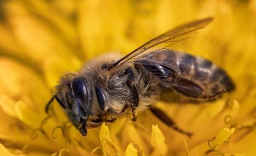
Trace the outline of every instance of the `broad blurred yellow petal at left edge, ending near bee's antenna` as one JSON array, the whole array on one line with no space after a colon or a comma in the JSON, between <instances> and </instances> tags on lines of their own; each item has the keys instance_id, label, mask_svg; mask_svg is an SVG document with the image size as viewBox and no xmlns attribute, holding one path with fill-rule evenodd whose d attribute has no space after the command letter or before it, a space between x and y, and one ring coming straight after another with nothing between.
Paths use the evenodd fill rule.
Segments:
<instances>
[{"instance_id":1,"label":"broad blurred yellow petal at left edge, ending near bee's antenna","mask_svg":"<svg viewBox=\"0 0 256 156\"><path fill-rule=\"evenodd\" d=\"M14 59L0 57L0 85L2 94L38 110L43 109L49 98L49 90L41 76Z\"/></svg>"}]
</instances>

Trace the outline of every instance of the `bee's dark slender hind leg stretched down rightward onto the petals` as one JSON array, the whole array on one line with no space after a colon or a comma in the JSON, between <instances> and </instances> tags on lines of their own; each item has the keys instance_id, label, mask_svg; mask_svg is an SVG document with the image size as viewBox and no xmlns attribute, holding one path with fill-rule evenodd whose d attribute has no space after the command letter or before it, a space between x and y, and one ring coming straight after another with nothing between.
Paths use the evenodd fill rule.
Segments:
<instances>
[{"instance_id":1,"label":"bee's dark slender hind leg stretched down rightward onto the petals","mask_svg":"<svg viewBox=\"0 0 256 156\"><path fill-rule=\"evenodd\" d=\"M191 132L187 132L187 131L180 129L176 125L176 123L173 121L173 119L171 119L165 112L161 111L160 109L153 107L153 106L151 106L149 109L155 116L157 116L162 122L164 122L167 126L172 128L173 130L175 130L179 133L182 133L184 135L187 135L188 137L191 137L193 135Z\"/></svg>"}]
</instances>

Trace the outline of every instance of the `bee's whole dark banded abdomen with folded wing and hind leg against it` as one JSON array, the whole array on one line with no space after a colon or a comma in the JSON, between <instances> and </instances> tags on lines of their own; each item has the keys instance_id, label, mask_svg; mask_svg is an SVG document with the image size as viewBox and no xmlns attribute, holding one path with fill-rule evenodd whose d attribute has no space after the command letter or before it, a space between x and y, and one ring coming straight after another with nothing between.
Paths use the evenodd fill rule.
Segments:
<instances>
[{"instance_id":1,"label":"bee's whole dark banded abdomen with folded wing and hind leg against it","mask_svg":"<svg viewBox=\"0 0 256 156\"><path fill-rule=\"evenodd\" d=\"M210 60L188 53L161 49L133 61L159 78L164 88L172 88L194 99L216 99L235 89L227 73Z\"/></svg>"}]
</instances>

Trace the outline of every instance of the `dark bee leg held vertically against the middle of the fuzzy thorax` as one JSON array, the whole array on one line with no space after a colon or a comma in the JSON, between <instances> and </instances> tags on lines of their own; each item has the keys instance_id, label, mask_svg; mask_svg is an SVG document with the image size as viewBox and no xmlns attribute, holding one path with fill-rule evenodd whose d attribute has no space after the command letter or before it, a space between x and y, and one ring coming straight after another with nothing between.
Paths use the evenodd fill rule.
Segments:
<instances>
[{"instance_id":1,"label":"dark bee leg held vertically against the middle of the fuzzy thorax","mask_svg":"<svg viewBox=\"0 0 256 156\"><path fill-rule=\"evenodd\" d=\"M130 104L130 107L132 108L132 121L136 121L137 115L136 115L136 107L138 106L138 90L135 86L136 80L135 76L132 72L131 67L127 68L125 70L125 73L127 75L127 81L126 84L129 87L130 96L128 98L128 103Z\"/></svg>"}]
</instances>

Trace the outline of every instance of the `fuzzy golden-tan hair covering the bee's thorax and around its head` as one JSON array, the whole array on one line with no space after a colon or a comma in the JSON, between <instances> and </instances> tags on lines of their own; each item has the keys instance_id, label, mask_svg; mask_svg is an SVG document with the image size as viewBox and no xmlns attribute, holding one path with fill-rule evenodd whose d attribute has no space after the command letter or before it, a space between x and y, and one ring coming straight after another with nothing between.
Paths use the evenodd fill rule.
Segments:
<instances>
[{"instance_id":1,"label":"fuzzy golden-tan hair covering the bee's thorax and around its head","mask_svg":"<svg viewBox=\"0 0 256 156\"><path fill-rule=\"evenodd\" d=\"M77 77L84 77L88 80L92 88L93 96L90 109L92 113L95 114L94 118L97 118L97 115L116 116L122 115L125 112L130 113L130 107L128 107L126 111L123 111L125 105L128 103L127 99L131 93L126 85L127 76L122 76L122 73L125 72L125 69L127 69L129 65L123 65L120 68L110 71L102 69L103 65L113 63L114 61L120 59L119 56L120 55L117 53L101 55L90 60L77 73L66 73L63 77L61 77L59 85L56 86L57 96L64 101L65 92L71 89L71 82ZM139 94L139 104L136 110L143 111L147 108L147 106L152 105L159 100L159 80L142 67L138 67L137 70L133 65L130 67L135 75L135 85ZM107 106L105 107L104 111L101 110L96 97L94 87L97 85L103 88L105 95L107 96ZM107 110L109 108L112 108L117 113L108 113Z\"/></svg>"}]
</instances>

